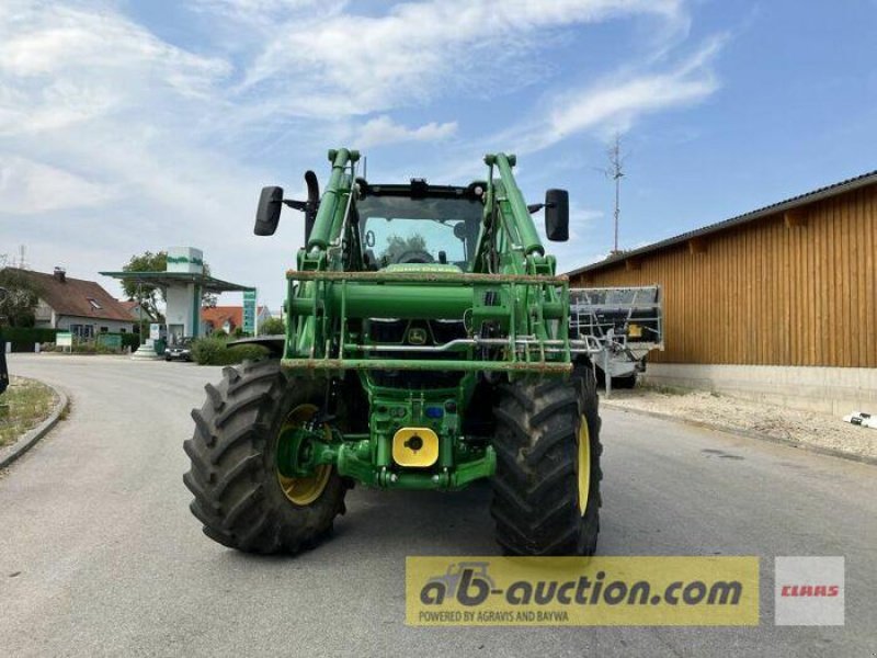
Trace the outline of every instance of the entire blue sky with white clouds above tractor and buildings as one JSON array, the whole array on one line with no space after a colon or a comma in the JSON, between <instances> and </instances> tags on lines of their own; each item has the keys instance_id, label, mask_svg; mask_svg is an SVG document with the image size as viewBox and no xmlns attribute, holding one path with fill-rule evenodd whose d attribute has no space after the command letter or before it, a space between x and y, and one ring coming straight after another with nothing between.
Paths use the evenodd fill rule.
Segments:
<instances>
[{"instance_id":1,"label":"entire blue sky with white clouds above tractor and buildings","mask_svg":"<svg viewBox=\"0 0 877 658\"><path fill-rule=\"evenodd\" d=\"M613 248L616 135L623 249L877 169L876 34L877 0L2 0L0 260L121 295L192 246L276 311L304 223L253 236L259 191L346 146L372 182L516 154L569 190L567 271Z\"/></svg>"}]
</instances>

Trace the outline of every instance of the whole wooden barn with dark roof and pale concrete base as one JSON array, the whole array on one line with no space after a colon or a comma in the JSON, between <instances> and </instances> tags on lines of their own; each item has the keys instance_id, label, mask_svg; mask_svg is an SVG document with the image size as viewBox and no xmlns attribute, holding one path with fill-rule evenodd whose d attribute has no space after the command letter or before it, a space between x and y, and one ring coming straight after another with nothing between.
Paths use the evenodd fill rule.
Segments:
<instances>
[{"instance_id":1,"label":"whole wooden barn with dark roof and pale concrete base","mask_svg":"<svg viewBox=\"0 0 877 658\"><path fill-rule=\"evenodd\" d=\"M613 256L573 287L663 286L647 377L877 412L877 171Z\"/></svg>"}]
</instances>

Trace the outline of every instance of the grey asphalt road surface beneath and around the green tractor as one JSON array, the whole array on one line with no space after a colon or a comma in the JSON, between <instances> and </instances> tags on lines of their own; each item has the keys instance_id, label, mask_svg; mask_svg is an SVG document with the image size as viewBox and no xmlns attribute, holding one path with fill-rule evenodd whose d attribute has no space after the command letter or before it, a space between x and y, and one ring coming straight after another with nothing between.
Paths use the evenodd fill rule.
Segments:
<instances>
[{"instance_id":1,"label":"grey asphalt road surface beneath and around the green tractor","mask_svg":"<svg viewBox=\"0 0 877 658\"><path fill-rule=\"evenodd\" d=\"M3 656L875 656L877 468L604 410L605 555L761 556L741 628L421 628L406 555L494 555L489 489L355 489L295 558L208 541L182 474L189 411L219 368L12 355L72 411L0 474ZM773 558L843 555L846 624L776 627Z\"/></svg>"}]
</instances>

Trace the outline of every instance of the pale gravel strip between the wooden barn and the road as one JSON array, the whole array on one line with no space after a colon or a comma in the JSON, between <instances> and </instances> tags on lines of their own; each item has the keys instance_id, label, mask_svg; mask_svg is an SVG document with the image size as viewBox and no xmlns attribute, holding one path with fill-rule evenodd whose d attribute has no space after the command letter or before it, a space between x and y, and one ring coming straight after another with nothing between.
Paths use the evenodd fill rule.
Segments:
<instances>
[{"instance_id":1,"label":"pale gravel strip between the wooden barn and the road","mask_svg":"<svg viewBox=\"0 0 877 658\"><path fill-rule=\"evenodd\" d=\"M742 430L858 457L877 458L877 430L853 426L840 417L824 413L799 411L705 390L645 386L634 390L613 390L612 398L604 398L601 402ZM863 410L877 412L877 409Z\"/></svg>"}]
</instances>

